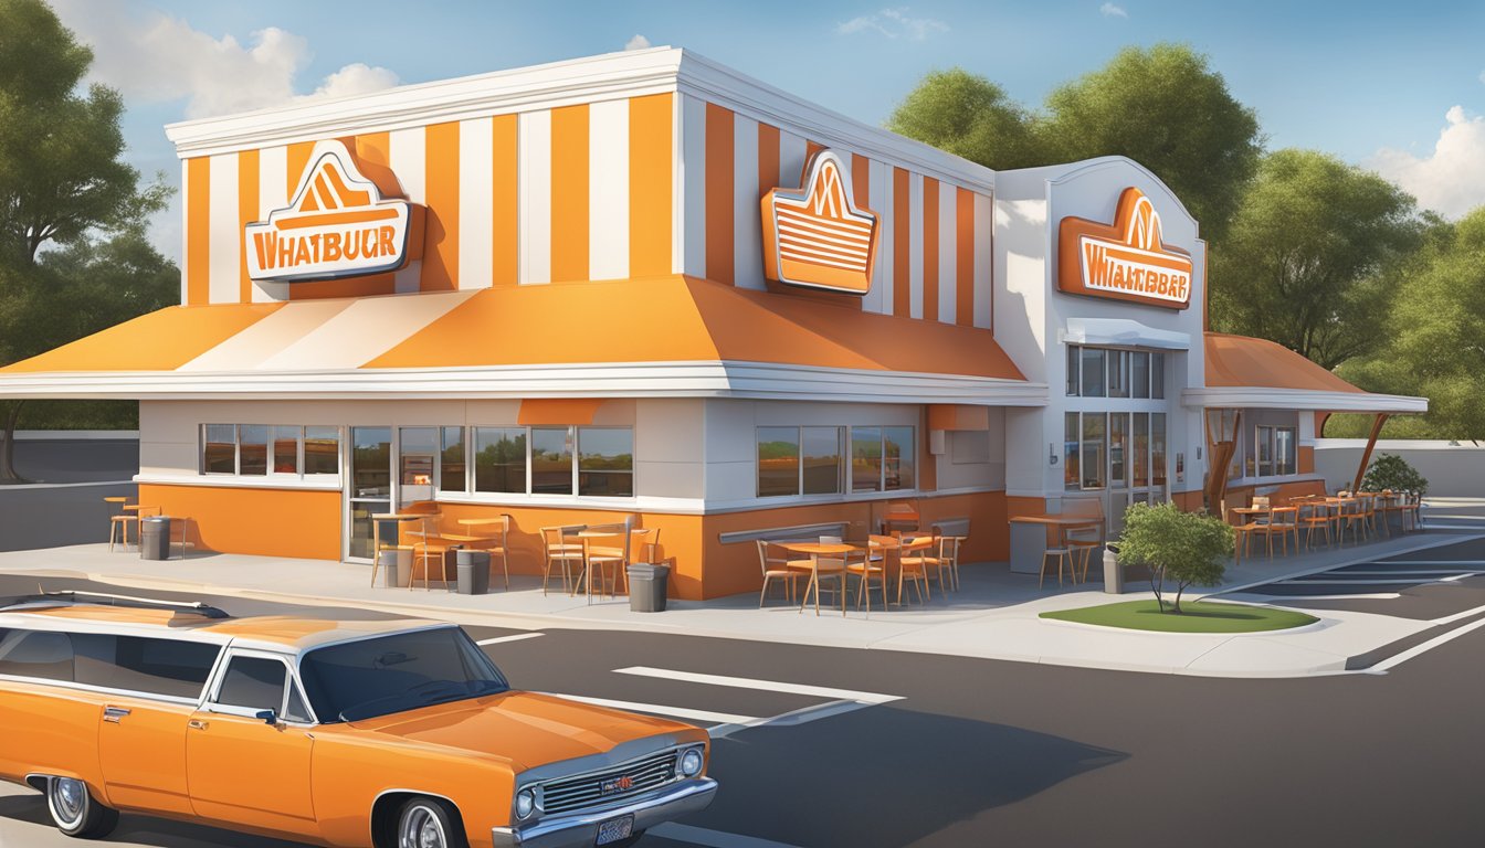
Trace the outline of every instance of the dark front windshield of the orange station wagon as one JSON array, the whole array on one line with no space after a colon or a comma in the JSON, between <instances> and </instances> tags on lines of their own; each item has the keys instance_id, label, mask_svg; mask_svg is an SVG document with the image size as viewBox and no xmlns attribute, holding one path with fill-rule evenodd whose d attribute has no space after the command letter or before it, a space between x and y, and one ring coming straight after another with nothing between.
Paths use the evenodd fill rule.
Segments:
<instances>
[{"instance_id":1,"label":"dark front windshield of the orange station wagon","mask_svg":"<svg viewBox=\"0 0 1485 848\"><path fill-rule=\"evenodd\" d=\"M318 648L304 653L298 671L321 722L356 722L509 689L457 627Z\"/></svg>"}]
</instances>

